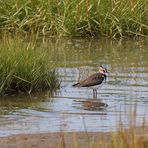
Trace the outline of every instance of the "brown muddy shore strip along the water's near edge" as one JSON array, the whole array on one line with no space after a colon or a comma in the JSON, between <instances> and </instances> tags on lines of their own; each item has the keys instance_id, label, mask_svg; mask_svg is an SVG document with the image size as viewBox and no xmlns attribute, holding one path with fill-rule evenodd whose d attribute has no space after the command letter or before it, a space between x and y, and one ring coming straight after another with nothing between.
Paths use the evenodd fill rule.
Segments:
<instances>
[{"instance_id":1,"label":"brown muddy shore strip along the water's near edge","mask_svg":"<svg viewBox=\"0 0 148 148\"><path fill-rule=\"evenodd\" d=\"M148 142L148 126L136 127L135 129L122 129L118 132L56 132L17 134L0 138L1 148L54 148L54 147L108 147L112 144L113 138L119 139L121 132L127 135L127 139L134 135L136 139ZM131 142L131 141L130 141Z\"/></svg>"}]
</instances>

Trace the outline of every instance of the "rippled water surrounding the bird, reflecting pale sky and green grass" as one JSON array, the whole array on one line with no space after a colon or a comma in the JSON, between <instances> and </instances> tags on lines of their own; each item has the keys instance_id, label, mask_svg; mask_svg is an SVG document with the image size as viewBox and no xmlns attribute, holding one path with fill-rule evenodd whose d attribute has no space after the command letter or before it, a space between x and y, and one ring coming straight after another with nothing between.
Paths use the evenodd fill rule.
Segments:
<instances>
[{"instance_id":1,"label":"rippled water surrounding the bird, reflecting pale sky and green grass","mask_svg":"<svg viewBox=\"0 0 148 148\"><path fill-rule=\"evenodd\" d=\"M0 136L148 125L148 42L60 39L39 46L57 68L61 88L53 97L45 92L1 98ZM100 64L109 75L97 91L97 103L103 105L95 108L92 89L72 84L97 72Z\"/></svg>"}]
</instances>

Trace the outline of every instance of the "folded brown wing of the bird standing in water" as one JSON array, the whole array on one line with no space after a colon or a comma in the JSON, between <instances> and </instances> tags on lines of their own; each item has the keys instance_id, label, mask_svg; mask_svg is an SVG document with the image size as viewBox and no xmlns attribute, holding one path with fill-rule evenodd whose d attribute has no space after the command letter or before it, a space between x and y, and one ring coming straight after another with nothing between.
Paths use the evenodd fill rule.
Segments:
<instances>
[{"instance_id":1,"label":"folded brown wing of the bird standing in water","mask_svg":"<svg viewBox=\"0 0 148 148\"><path fill-rule=\"evenodd\" d=\"M89 86L99 85L102 83L104 78L105 76L103 74L95 73L89 76L87 79L80 81L77 86L78 87L89 87Z\"/></svg>"}]
</instances>

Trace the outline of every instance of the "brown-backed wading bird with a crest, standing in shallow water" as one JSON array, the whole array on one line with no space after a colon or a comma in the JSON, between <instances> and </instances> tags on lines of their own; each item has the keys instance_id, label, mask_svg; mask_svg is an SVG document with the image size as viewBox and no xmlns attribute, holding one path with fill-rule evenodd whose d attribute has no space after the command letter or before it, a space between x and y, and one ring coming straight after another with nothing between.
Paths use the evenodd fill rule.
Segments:
<instances>
[{"instance_id":1,"label":"brown-backed wading bird with a crest, standing in shallow water","mask_svg":"<svg viewBox=\"0 0 148 148\"><path fill-rule=\"evenodd\" d=\"M97 73L90 75L88 78L79 81L76 84L73 84L73 87L90 87L93 89L93 99L97 99L97 88L103 81L107 78L107 69L104 68L102 65L99 67Z\"/></svg>"}]
</instances>

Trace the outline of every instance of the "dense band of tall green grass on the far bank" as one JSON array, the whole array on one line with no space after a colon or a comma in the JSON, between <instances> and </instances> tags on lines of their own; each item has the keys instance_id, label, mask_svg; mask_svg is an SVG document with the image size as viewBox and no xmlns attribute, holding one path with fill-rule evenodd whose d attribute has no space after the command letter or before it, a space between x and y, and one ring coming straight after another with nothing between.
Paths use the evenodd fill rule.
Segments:
<instances>
[{"instance_id":1,"label":"dense band of tall green grass on the far bank","mask_svg":"<svg viewBox=\"0 0 148 148\"><path fill-rule=\"evenodd\" d=\"M148 2L1 0L0 32L50 36L147 37Z\"/></svg>"}]
</instances>

